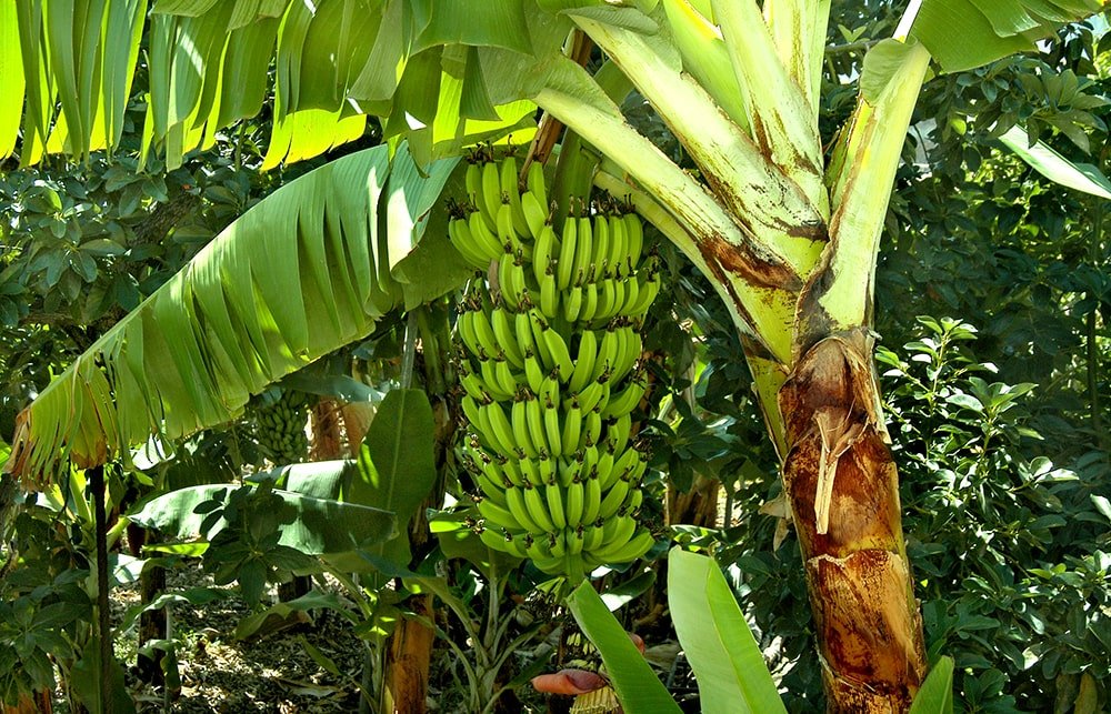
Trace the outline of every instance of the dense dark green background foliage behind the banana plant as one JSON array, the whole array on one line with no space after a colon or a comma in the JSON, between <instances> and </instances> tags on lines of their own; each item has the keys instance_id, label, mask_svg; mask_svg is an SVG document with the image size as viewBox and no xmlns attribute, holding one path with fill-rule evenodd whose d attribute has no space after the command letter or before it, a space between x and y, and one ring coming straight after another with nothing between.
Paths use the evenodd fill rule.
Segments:
<instances>
[{"instance_id":1,"label":"dense dark green background foliage behind the banana plant","mask_svg":"<svg viewBox=\"0 0 1111 714\"><path fill-rule=\"evenodd\" d=\"M865 49L859 39L890 31L897 17L889 3L872 1L838 3L837 12L832 41L840 47L830 52L823 92L823 122L830 125L851 109L855 90L842 80L859 68ZM1105 209L1053 187L992 141L1022 122L1032 137L1107 170L1108 37L1080 27L1040 56L931 82L888 217L878 275L877 369L930 656L954 658L958 702L969 711L1095 711L1109 701ZM1063 71L1063 79L1047 70ZM645 135L681 157L643 104L631 100L627 110ZM286 174L249 170L260 160L252 133L222 141L217 152L193 157L169 174L156 164L140 171L126 152L112 163L94 158L86 167L57 161L0 172L4 436L16 410L107 326L224 224L308 168ZM670 533L731 564L733 589L781 677L788 707L814 711L820 665L799 549L778 517L784 511L777 460L749 391L735 331L697 271L658 235L649 241L662 259L664 294L647 323L653 388L639 435L653 446L653 460L644 484L652 497L645 497L642 519L664 533L661 504L669 484L682 492L720 480L725 512L735 519L720 530L677 526ZM444 312L442 305L437 310ZM446 323L441 326L444 332ZM384 320L366 343L331 361L324 381L334 385L337 373L344 379L354 373L361 389L379 399L376 390L399 383L436 392L437 384L453 379L452 368L427 348L417 350L412 338L403 344L406 330L398 315ZM422 343L434 342L433 335L421 332ZM421 361L416 378L413 360ZM172 491L223 482L268 459L284 461L251 434L252 418L261 421L263 405L276 394L249 408L259 413L244 423L203 433L144 473L110 473L110 493L119 500L126 484ZM433 402L437 409L457 406ZM304 451L300 441L296 446L299 454ZM473 491L466 475L457 473L450 454L438 459L447 491L464 500ZM27 507L13 523L23 560L0 582L0 643L10 645L0 646L6 698L52 682L48 655L68 674L91 631L91 520L81 484L70 485ZM293 571L348 572L279 544L279 526L287 524L278 522L278 496L267 487L233 493L227 505L211 506L232 527L213 535L201 561L218 583L238 582L240 593L257 603L264 600L268 581L287 580ZM254 495L248 499L249 493ZM449 667L457 684L464 682L457 698L467 705L490 702L499 687L521 685L528 667L551 654L520 656L518 648L546 633L523 605L506 604L499 612L500 599L512 594L523 602L542 579L530 569L511 576L499 572L514 564L477 547L464 516L450 503L436 517L439 549L432 543L409 552L407 545L403 554L391 554L389 566L412 579L407 582L413 590L436 592L453 612L458 622L438 634L443 648L459 655ZM64 527L51 527L59 520ZM661 559L663 551L651 555ZM162 564L193 567L197 561L174 556ZM383 561L372 564L382 567ZM638 581L639 573L609 575L609 585L627 585L632 593L627 622L648 611L653 597L651 590L642 596L650 577ZM118 576L126 574L123 569ZM347 593L356 605L317 597L294 607L339 610L361 636L377 641L382 621L403 607L400 594L382 600L380 584L369 576L352 579ZM188 599L212 596L198 591ZM507 612L520 622L503 625L499 617L508 619ZM667 637L670 631L663 625L651 634ZM468 641L480 643L478 654L462 654ZM507 663L518 673L508 682L499 680Z\"/></svg>"}]
</instances>

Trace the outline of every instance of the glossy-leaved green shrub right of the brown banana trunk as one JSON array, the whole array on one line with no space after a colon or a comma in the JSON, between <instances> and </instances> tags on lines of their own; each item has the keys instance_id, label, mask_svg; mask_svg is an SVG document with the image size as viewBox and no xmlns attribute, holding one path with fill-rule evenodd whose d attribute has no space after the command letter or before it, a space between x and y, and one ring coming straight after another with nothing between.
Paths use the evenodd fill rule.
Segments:
<instances>
[{"instance_id":1,"label":"glossy-leaved green shrub right of the brown banana trunk","mask_svg":"<svg viewBox=\"0 0 1111 714\"><path fill-rule=\"evenodd\" d=\"M1054 711L1081 690L1104 701L1105 480L1030 455L1035 385L989 381L993 366L969 349L974 328L919 323L904 355L881 349L878 361L930 654L954 657L969 711Z\"/></svg>"}]
</instances>

